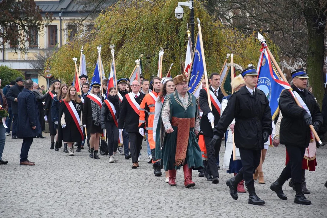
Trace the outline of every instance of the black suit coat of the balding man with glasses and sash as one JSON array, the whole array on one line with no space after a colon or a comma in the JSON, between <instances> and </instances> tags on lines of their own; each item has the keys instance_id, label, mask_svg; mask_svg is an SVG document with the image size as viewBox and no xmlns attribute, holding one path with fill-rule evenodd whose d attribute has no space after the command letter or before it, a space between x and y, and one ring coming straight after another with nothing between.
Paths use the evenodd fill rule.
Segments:
<instances>
[{"instance_id":1,"label":"black suit coat of the balding man with glasses and sash","mask_svg":"<svg viewBox=\"0 0 327 218\"><path fill-rule=\"evenodd\" d=\"M140 105L144 94L138 94L136 102ZM120 106L119 120L118 120L118 129L123 129L125 121L126 132L139 132L139 119L140 116L134 111L132 106L126 99L126 96L123 96L123 101Z\"/></svg>"}]
</instances>

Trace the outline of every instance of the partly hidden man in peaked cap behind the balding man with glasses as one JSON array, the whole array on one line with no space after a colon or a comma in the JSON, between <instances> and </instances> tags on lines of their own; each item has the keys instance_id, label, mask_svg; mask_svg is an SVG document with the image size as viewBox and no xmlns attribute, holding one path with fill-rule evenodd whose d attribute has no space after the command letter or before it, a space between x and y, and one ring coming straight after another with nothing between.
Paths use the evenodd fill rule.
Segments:
<instances>
[{"instance_id":1,"label":"partly hidden man in peaked cap behind the balding man with glasses","mask_svg":"<svg viewBox=\"0 0 327 218\"><path fill-rule=\"evenodd\" d=\"M118 95L120 101L123 101L123 96L129 93L126 90L126 88L127 88L127 79L126 78L118 79L117 83L118 83L118 93L117 93L117 95ZM123 130L122 130L122 137L123 137L123 144L124 144L125 159L130 159L129 148L128 148L129 138L128 138L128 132L126 132L125 126L123 127ZM117 150L118 150L119 153L121 153L121 154L123 153L122 147L118 147Z\"/></svg>"}]
</instances>

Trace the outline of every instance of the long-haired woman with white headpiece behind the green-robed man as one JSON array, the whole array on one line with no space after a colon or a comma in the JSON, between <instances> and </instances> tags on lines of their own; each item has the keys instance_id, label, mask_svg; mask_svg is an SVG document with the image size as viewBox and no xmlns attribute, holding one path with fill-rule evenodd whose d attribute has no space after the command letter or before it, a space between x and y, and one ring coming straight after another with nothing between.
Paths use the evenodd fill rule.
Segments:
<instances>
[{"instance_id":1,"label":"long-haired woman with white headpiece behind the green-robed man","mask_svg":"<svg viewBox=\"0 0 327 218\"><path fill-rule=\"evenodd\" d=\"M161 79L162 83L162 88L158 96L158 100L156 101L155 108L154 108L154 119L153 119L153 140L155 142L155 159L161 159L162 160L162 153L161 153L161 147L162 140L156 140L156 132L157 132L157 126L158 126L158 121L161 113L161 109L163 106L163 101L166 98L167 95L172 94L176 89L175 89L175 84L174 80L171 77L163 77ZM159 124L160 126L161 124ZM161 137L160 134L160 128L158 129L158 137ZM158 142L158 143L157 143ZM161 164L163 165L163 161L161 161ZM169 182L169 174L168 171L165 171L165 183Z\"/></svg>"}]
</instances>

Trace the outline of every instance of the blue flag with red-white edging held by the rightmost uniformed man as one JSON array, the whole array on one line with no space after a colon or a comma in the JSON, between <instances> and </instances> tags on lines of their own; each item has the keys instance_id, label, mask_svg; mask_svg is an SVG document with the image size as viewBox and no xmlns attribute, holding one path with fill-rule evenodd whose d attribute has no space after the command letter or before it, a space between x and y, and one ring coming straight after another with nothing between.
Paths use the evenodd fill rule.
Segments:
<instances>
[{"instance_id":1,"label":"blue flag with red-white edging held by the rightmost uniformed man","mask_svg":"<svg viewBox=\"0 0 327 218\"><path fill-rule=\"evenodd\" d=\"M287 81L284 82L280 79L265 48L260 55L257 72L259 74L257 88L265 92L269 100L272 119L275 119L279 113L278 102L281 92L289 89L290 86Z\"/></svg>"}]
</instances>

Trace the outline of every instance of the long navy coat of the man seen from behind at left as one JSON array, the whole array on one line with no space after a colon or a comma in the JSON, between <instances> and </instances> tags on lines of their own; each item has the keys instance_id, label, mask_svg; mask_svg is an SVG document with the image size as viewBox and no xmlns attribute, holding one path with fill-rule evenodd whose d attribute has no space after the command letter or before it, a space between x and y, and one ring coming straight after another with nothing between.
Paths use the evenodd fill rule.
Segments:
<instances>
[{"instance_id":1,"label":"long navy coat of the man seen from behind at left","mask_svg":"<svg viewBox=\"0 0 327 218\"><path fill-rule=\"evenodd\" d=\"M38 103L35 95L28 89L18 94L17 137L28 138L41 134ZM36 126L35 129L32 129Z\"/></svg>"}]
</instances>

